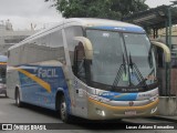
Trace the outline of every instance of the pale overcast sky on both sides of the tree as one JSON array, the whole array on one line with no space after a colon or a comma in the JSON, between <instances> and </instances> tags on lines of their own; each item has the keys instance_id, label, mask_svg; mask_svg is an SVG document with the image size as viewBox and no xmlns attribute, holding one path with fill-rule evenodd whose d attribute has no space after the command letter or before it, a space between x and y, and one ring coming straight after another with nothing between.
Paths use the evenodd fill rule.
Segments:
<instances>
[{"instance_id":1,"label":"pale overcast sky on both sides of the tree","mask_svg":"<svg viewBox=\"0 0 177 133\"><path fill-rule=\"evenodd\" d=\"M146 0L150 8L169 4L171 0ZM14 30L30 29L30 24L37 24L37 29L55 23L62 19L51 2L44 0L0 0L0 21L10 20Z\"/></svg>"}]
</instances>

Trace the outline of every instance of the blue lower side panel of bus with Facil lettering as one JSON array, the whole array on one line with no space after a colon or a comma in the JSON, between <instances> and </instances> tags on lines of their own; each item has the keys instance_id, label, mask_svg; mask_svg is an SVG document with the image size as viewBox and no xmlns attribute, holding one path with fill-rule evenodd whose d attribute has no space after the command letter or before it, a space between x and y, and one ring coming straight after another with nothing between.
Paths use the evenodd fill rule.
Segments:
<instances>
[{"instance_id":1,"label":"blue lower side panel of bus with Facil lettering","mask_svg":"<svg viewBox=\"0 0 177 133\"><path fill-rule=\"evenodd\" d=\"M67 84L61 66L22 65L19 69L41 79L41 81L50 84L51 88L51 91L46 90L37 80L33 80L31 75L29 76L23 71L19 71L23 102L55 110L56 92L62 90L70 106Z\"/></svg>"}]
</instances>

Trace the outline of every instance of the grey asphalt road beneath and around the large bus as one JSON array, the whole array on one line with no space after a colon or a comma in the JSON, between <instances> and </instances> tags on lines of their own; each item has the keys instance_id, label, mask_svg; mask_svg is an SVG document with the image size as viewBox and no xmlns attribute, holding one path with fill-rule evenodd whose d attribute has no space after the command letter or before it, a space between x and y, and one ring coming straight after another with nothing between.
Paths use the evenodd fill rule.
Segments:
<instances>
[{"instance_id":1,"label":"grey asphalt road beneath and around the large bus","mask_svg":"<svg viewBox=\"0 0 177 133\"><path fill-rule=\"evenodd\" d=\"M76 122L76 123L75 123ZM48 131L0 131L4 133L176 133L175 130L123 130L122 125L137 126L137 123L169 123L150 119L124 119L119 121L93 122L83 119L74 119L73 124L64 124L56 112L25 104L17 108L14 100L0 95L0 123L53 123L60 130Z\"/></svg>"}]
</instances>

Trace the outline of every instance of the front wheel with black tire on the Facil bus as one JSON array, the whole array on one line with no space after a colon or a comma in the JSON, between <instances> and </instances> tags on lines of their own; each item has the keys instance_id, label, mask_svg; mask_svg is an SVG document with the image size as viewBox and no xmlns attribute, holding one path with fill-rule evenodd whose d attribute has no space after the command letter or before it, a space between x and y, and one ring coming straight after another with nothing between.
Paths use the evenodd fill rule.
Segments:
<instances>
[{"instance_id":1,"label":"front wheel with black tire on the Facil bus","mask_svg":"<svg viewBox=\"0 0 177 133\"><path fill-rule=\"evenodd\" d=\"M67 105L64 95L60 99L59 108L60 117L64 123L71 123L71 115L67 113Z\"/></svg>"}]
</instances>

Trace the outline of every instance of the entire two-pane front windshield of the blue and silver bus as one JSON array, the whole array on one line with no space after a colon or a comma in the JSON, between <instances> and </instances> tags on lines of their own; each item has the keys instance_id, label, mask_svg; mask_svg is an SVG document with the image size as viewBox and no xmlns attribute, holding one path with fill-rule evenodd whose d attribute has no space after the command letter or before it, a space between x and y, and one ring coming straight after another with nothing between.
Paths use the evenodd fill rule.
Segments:
<instances>
[{"instance_id":1,"label":"entire two-pane front windshield of the blue and silver bus","mask_svg":"<svg viewBox=\"0 0 177 133\"><path fill-rule=\"evenodd\" d=\"M86 37L93 44L92 82L110 86L155 83L154 53L146 34L87 29Z\"/></svg>"}]
</instances>

